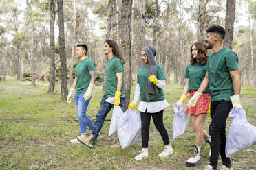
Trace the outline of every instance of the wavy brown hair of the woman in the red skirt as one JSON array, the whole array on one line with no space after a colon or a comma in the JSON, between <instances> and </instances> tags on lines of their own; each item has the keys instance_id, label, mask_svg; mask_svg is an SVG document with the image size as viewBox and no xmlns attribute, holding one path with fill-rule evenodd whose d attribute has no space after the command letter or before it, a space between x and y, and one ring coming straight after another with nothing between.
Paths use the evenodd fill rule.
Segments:
<instances>
[{"instance_id":1,"label":"wavy brown hair of the woman in the red skirt","mask_svg":"<svg viewBox=\"0 0 256 170\"><path fill-rule=\"evenodd\" d=\"M192 56L192 47L193 45L195 45L195 48L198 50L198 56L196 58L193 58ZM196 62L196 59L198 58L199 60L199 64L206 64L207 63L207 59L208 59L208 52L206 47L204 46L203 42L195 42L193 45L191 45L190 48L190 63L193 64L194 62Z\"/></svg>"}]
</instances>

